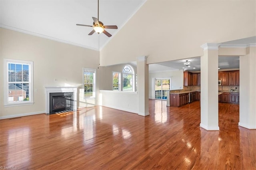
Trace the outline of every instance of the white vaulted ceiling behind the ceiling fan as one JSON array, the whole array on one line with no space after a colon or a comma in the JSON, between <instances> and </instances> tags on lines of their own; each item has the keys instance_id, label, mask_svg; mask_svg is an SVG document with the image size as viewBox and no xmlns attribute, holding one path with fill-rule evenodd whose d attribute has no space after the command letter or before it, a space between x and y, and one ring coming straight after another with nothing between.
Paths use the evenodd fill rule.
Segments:
<instances>
[{"instance_id":1,"label":"white vaulted ceiling behind the ceiling fan","mask_svg":"<svg viewBox=\"0 0 256 170\"><path fill-rule=\"evenodd\" d=\"M146 0L99 0L99 20L118 30ZM97 0L0 0L0 27L98 50L98 35L88 34L98 18ZM107 29L112 37L118 30ZM100 34L100 49L110 40Z\"/></svg>"}]
</instances>

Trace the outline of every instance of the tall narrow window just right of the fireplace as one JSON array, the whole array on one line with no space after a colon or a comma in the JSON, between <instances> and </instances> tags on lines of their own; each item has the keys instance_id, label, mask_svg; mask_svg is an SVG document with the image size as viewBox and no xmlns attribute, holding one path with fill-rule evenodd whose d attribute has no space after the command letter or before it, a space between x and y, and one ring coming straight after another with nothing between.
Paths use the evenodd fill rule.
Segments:
<instances>
[{"instance_id":1,"label":"tall narrow window just right of the fireplace","mask_svg":"<svg viewBox=\"0 0 256 170\"><path fill-rule=\"evenodd\" d=\"M83 69L84 98L94 98L96 88L96 69Z\"/></svg>"}]
</instances>

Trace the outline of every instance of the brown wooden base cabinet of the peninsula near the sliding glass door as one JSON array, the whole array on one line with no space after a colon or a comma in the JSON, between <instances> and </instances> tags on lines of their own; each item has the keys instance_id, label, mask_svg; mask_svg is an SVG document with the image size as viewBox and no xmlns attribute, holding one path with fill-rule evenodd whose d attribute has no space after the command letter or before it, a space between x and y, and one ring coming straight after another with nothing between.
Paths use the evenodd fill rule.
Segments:
<instances>
[{"instance_id":1,"label":"brown wooden base cabinet of the peninsula near the sliding glass door","mask_svg":"<svg viewBox=\"0 0 256 170\"><path fill-rule=\"evenodd\" d=\"M180 107L188 104L189 93L171 93L170 106Z\"/></svg>"}]
</instances>

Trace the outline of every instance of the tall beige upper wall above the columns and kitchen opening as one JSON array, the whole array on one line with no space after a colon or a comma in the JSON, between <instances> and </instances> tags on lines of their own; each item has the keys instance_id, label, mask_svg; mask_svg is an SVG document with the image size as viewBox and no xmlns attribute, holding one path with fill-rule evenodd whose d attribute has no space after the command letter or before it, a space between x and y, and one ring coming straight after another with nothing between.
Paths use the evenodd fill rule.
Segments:
<instances>
[{"instance_id":1,"label":"tall beige upper wall above the columns and kitchen opening","mask_svg":"<svg viewBox=\"0 0 256 170\"><path fill-rule=\"evenodd\" d=\"M203 55L200 45L256 35L256 1L148 0L102 49L102 65Z\"/></svg>"}]
</instances>

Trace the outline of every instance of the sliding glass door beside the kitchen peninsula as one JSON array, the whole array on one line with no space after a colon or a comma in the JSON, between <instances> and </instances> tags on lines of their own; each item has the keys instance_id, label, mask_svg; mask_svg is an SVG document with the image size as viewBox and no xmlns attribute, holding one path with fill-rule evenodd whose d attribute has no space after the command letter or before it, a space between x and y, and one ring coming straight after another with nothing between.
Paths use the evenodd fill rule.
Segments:
<instances>
[{"instance_id":1,"label":"sliding glass door beside the kitchen peninsula","mask_svg":"<svg viewBox=\"0 0 256 170\"><path fill-rule=\"evenodd\" d=\"M155 80L155 97L156 99L167 99L167 93L170 90L170 78L157 78Z\"/></svg>"}]
</instances>

